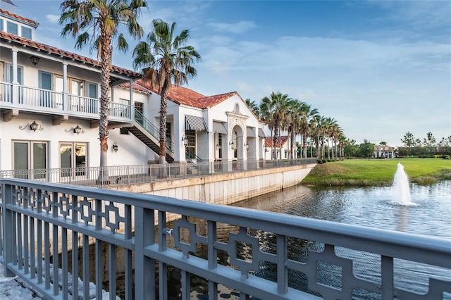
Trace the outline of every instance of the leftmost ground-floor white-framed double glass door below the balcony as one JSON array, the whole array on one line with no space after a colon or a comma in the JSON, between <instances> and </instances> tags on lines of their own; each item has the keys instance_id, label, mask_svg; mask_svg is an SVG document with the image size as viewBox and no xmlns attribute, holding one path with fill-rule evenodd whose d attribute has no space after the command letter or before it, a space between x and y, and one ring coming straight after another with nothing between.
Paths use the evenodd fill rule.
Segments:
<instances>
[{"instance_id":1,"label":"leftmost ground-floor white-framed double glass door below the balcony","mask_svg":"<svg viewBox=\"0 0 451 300\"><path fill-rule=\"evenodd\" d=\"M31 167L31 168L30 168ZM47 142L16 141L13 142L14 170L47 169ZM45 173L20 176L24 179L45 178Z\"/></svg>"}]
</instances>

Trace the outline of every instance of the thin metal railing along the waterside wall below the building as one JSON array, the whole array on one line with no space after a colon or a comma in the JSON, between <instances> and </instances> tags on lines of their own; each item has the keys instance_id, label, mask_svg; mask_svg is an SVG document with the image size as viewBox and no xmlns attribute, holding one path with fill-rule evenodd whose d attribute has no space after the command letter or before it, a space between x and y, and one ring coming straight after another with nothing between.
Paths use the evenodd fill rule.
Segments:
<instances>
[{"instance_id":1,"label":"thin metal railing along the waterside wall below the building","mask_svg":"<svg viewBox=\"0 0 451 300\"><path fill-rule=\"evenodd\" d=\"M259 168L283 168L285 166L315 164L315 158L301 158L284 161L216 161L201 163L166 163L163 165L115 165L109 167L78 167L33 170L0 170L0 177L56 182L89 187L137 185L141 183L179 180L228 172L246 172ZM196 172L193 172L196 170ZM98 181L99 173L108 180Z\"/></svg>"}]
</instances>

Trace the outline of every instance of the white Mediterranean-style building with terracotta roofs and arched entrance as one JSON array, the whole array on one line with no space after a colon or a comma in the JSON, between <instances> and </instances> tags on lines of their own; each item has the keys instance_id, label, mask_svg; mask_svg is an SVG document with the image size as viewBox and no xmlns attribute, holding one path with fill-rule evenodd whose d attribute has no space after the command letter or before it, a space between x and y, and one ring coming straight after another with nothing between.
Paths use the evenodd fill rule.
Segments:
<instances>
[{"instance_id":1,"label":"white Mediterranean-style building with terracotta roofs and arched entrance","mask_svg":"<svg viewBox=\"0 0 451 300\"><path fill-rule=\"evenodd\" d=\"M38 26L0 9L0 170L98 166L99 62L35 41ZM108 165L158 161L159 94L117 66L110 86ZM167 128L169 163L264 158L264 123L237 92L173 87Z\"/></svg>"}]
</instances>

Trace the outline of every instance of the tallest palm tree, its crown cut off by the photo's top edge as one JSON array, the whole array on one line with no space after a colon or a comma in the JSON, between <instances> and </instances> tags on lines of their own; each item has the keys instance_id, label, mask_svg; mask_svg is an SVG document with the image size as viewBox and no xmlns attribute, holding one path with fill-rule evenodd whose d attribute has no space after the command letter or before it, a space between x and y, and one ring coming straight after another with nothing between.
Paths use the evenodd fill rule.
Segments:
<instances>
[{"instance_id":1,"label":"tallest palm tree, its crown cut off by the photo's top edge","mask_svg":"<svg viewBox=\"0 0 451 300\"><path fill-rule=\"evenodd\" d=\"M142 37L142 27L137 23L141 8L147 7L146 0L67 0L61 3L59 23L64 25L61 35L76 37L75 47L81 49L91 44L91 50L97 51L100 59L100 169L99 181L108 180L104 174L108 151L108 118L110 103L110 72L113 57L113 38L118 39L118 49L126 52L128 44L123 34L119 33L121 25L128 28L132 37ZM92 30L92 35L89 31Z\"/></svg>"}]
</instances>

